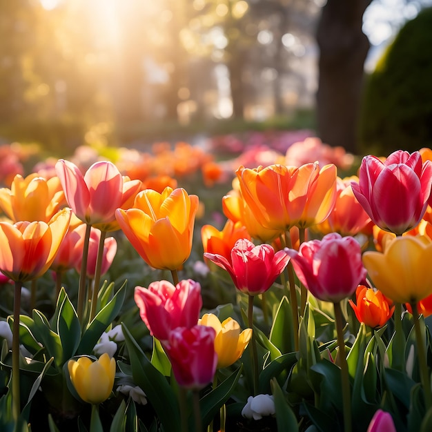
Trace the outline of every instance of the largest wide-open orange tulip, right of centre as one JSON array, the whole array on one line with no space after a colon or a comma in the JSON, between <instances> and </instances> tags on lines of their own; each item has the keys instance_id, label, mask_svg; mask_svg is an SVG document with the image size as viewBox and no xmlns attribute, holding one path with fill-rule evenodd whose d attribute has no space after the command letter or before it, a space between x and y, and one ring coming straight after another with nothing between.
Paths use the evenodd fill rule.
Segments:
<instances>
[{"instance_id":1,"label":"largest wide-open orange tulip, right of centre","mask_svg":"<svg viewBox=\"0 0 432 432\"><path fill-rule=\"evenodd\" d=\"M259 224L285 231L291 226L307 228L320 224L330 214L336 199L336 166L318 164L271 165L236 171L246 204Z\"/></svg>"}]
</instances>

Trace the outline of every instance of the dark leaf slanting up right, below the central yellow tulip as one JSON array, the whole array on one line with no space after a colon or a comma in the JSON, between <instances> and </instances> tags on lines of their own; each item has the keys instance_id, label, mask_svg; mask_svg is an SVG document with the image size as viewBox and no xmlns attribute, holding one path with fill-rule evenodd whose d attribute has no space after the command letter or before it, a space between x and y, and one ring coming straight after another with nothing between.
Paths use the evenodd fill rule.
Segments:
<instances>
[{"instance_id":1,"label":"dark leaf slanting up right, below the central yellow tulip","mask_svg":"<svg viewBox=\"0 0 432 432\"><path fill-rule=\"evenodd\" d=\"M241 373L242 366L239 366L226 380L199 400L199 409L201 411L204 427L210 424L211 420L213 420L215 415L219 412L221 406L229 399L231 393L233 393L235 389L235 385L239 381Z\"/></svg>"}]
</instances>

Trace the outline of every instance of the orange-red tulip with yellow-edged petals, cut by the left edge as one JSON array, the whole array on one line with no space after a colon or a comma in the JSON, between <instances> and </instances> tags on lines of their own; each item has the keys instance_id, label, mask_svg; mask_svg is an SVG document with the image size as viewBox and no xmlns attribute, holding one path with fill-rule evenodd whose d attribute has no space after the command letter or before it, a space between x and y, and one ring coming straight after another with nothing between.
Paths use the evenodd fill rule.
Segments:
<instances>
[{"instance_id":1,"label":"orange-red tulip with yellow-edged petals, cut by the left edge","mask_svg":"<svg viewBox=\"0 0 432 432\"><path fill-rule=\"evenodd\" d=\"M55 259L70 222L63 208L48 222L0 222L0 270L15 282L43 275Z\"/></svg>"}]
</instances>

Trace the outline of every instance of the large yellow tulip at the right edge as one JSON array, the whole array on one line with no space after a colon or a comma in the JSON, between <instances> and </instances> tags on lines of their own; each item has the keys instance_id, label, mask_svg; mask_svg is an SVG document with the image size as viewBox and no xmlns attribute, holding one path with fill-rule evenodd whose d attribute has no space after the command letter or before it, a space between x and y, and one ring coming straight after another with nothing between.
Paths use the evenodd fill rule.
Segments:
<instances>
[{"instance_id":1,"label":"large yellow tulip at the right edge","mask_svg":"<svg viewBox=\"0 0 432 432\"><path fill-rule=\"evenodd\" d=\"M395 237L384 253L368 251L363 264L373 283L397 303L416 303L432 294L432 242L424 236Z\"/></svg>"}]
</instances>

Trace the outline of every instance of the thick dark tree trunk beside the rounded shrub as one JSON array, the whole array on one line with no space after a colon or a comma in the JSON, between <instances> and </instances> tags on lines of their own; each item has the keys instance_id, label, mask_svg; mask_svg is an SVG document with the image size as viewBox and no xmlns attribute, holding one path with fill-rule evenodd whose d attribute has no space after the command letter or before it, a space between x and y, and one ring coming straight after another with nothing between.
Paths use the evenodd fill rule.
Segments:
<instances>
[{"instance_id":1,"label":"thick dark tree trunk beside the rounded shrub","mask_svg":"<svg viewBox=\"0 0 432 432\"><path fill-rule=\"evenodd\" d=\"M362 17L371 0L327 0L317 28L320 48L318 134L331 146L357 150L357 120L369 40Z\"/></svg>"}]
</instances>

